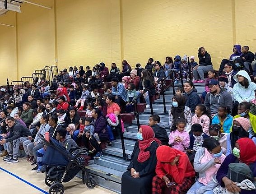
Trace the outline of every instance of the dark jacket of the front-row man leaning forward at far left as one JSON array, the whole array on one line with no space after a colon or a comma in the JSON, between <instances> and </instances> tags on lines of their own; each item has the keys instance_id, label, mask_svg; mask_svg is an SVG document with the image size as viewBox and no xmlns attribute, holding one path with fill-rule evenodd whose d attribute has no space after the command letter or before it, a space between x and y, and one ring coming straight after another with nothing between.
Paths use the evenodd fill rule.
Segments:
<instances>
[{"instance_id":1,"label":"dark jacket of the front-row man leaning forward at far left","mask_svg":"<svg viewBox=\"0 0 256 194\"><path fill-rule=\"evenodd\" d=\"M14 126L10 127L9 129L10 131L8 137L6 138L6 142L12 142L15 139L32 136L28 128L21 125L19 120L16 120Z\"/></svg>"}]
</instances>

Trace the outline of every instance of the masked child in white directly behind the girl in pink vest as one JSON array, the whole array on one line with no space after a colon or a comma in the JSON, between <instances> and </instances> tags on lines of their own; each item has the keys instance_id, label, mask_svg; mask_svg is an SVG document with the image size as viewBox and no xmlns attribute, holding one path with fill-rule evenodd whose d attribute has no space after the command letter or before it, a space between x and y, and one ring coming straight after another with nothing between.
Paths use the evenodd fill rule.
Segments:
<instances>
[{"instance_id":1,"label":"masked child in white directly behind the girl in pink vest","mask_svg":"<svg viewBox=\"0 0 256 194\"><path fill-rule=\"evenodd\" d=\"M223 154L227 155L227 134L220 132L221 125L214 124L209 127L210 137L219 141Z\"/></svg>"}]
</instances>

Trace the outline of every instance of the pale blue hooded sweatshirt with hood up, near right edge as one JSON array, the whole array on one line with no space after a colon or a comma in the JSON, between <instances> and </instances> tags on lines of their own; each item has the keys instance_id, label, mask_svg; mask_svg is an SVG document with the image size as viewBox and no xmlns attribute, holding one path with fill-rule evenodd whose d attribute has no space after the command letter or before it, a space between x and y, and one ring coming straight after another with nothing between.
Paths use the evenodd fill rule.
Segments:
<instances>
[{"instance_id":1,"label":"pale blue hooded sweatshirt with hood up, near right edge","mask_svg":"<svg viewBox=\"0 0 256 194\"><path fill-rule=\"evenodd\" d=\"M240 83L238 83L237 75L242 75L243 77L248 79L249 81L248 88L245 88ZM234 99L238 103L241 103L242 101L250 102L251 100L255 99L254 90L256 90L256 84L254 82L251 82L251 78L245 70L238 71L237 74L234 75L234 80L237 83L234 85L233 94L234 94Z\"/></svg>"}]
</instances>

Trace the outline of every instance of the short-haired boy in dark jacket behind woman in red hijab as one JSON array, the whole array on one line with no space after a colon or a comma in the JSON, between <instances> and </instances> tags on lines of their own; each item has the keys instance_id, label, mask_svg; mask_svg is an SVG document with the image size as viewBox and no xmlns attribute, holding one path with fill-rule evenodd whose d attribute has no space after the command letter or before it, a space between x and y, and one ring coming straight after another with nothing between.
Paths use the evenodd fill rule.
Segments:
<instances>
[{"instance_id":1,"label":"short-haired boy in dark jacket behind woman in red hijab","mask_svg":"<svg viewBox=\"0 0 256 194\"><path fill-rule=\"evenodd\" d=\"M149 117L149 126L154 130L155 138L162 142L162 145L168 145L169 138L165 130L165 125L160 124L160 116L151 115Z\"/></svg>"}]
</instances>

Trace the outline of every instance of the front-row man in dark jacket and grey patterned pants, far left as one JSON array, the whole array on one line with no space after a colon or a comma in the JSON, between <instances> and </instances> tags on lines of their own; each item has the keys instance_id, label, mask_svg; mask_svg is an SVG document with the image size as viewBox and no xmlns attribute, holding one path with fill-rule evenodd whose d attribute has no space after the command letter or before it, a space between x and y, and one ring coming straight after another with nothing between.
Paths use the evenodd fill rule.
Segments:
<instances>
[{"instance_id":1,"label":"front-row man in dark jacket and grey patterned pants, far left","mask_svg":"<svg viewBox=\"0 0 256 194\"><path fill-rule=\"evenodd\" d=\"M3 160L7 163L19 162L19 146L31 136L31 133L18 120L15 121L13 117L7 118L7 124L9 126L9 135L0 141L1 145L4 143L7 145L8 155Z\"/></svg>"}]
</instances>

